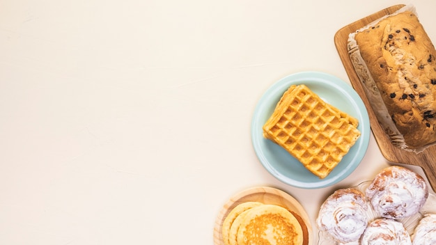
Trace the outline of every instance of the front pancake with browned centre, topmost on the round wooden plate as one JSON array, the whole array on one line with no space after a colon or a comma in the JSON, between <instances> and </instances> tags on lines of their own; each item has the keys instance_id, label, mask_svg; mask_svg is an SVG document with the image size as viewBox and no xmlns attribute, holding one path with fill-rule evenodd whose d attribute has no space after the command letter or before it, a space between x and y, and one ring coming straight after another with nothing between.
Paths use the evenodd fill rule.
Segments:
<instances>
[{"instance_id":1,"label":"front pancake with browned centre, topmost on the round wooden plate","mask_svg":"<svg viewBox=\"0 0 436 245\"><path fill-rule=\"evenodd\" d=\"M303 244L301 225L295 216L283 207L261 205L243 212L239 217L241 221L237 224L238 245Z\"/></svg>"}]
</instances>

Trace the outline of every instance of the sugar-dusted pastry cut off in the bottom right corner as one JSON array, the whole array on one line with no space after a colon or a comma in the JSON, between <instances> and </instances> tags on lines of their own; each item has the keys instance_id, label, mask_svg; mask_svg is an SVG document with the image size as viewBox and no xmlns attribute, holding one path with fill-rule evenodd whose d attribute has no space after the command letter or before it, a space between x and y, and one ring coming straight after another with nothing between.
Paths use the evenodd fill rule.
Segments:
<instances>
[{"instance_id":1,"label":"sugar-dusted pastry cut off in the bottom right corner","mask_svg":"<svg viewBox=\"0 0 436 245\"><path fill-rule=\"evenodd\" d=\"M436 214L427 214L419 221L412 235L412 244L436 244Z\"/></svg>"}]
</instances>

